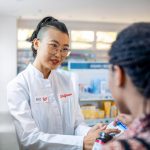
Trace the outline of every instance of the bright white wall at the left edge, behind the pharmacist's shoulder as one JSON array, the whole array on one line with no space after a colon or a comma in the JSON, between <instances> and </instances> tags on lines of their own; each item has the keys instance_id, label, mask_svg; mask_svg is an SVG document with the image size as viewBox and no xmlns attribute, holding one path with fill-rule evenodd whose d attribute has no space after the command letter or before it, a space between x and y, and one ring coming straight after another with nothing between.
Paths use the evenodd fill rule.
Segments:
<instances>
[{"instance_id":1,"label":"bright white wall at the left edge, behind the pharmacist's shoulder","mask_svg":"<svg viewBox=\"0 0 150 150\"><path fill-rule=\"evenodd\" d=\"M6 86L16 76L17 21L0 16L0 111L8 111Z\"/></svg>"}]
</instances>

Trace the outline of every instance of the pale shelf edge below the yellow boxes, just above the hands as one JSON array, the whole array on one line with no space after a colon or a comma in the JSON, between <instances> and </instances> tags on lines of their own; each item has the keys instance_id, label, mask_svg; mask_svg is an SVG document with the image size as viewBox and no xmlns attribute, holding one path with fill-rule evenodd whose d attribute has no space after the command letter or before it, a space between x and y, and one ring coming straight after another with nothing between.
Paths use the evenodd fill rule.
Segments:
<instances>
[{"instance_id":1,"label":"pale shelf edge below the yellow boxes, just above the hands","mask_svg":"<svg viewBox=\"0 0 150 150\"><path fill-rule=\"evenodd\" d=\"M89 126L94 126L97 123L105 123L105 124L109 124L110 122L112 122L114 120L114 118L104 118L104 119L85 119L85 122L87 125Z\"/></svg>"}]
</instances>

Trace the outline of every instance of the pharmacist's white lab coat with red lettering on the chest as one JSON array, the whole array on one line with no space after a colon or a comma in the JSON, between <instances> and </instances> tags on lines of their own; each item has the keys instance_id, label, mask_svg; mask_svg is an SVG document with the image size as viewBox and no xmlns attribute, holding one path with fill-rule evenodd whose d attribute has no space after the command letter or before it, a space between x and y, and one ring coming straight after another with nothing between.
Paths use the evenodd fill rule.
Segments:
<instances>
[{"instance_id":1,"label":"pharmacist's white lab coat with red lettering on the chest","mask_svg":"<svg viewBox=\"0 0 150 150\"><path fill-rule=\"evenodd\" d=\"M7 101L21 150L82 150L89 131L67 71L48 79L29 65L7 86Z\"/></svg>"}]
</instances>

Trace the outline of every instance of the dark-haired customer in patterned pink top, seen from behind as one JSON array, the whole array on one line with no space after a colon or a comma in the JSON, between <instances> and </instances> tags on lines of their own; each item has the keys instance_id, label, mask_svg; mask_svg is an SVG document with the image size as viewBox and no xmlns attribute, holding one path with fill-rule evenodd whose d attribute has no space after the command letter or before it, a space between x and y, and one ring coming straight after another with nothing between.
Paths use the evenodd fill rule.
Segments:
<instances>
[{"instance_id":1,"label":"dark-haired customer in patterned pink top, seen from behind","mask_svg":"<svg viewBox=\"0 0 150 150\"><path fill-rule=\"evenodd\" d=\"M102 150L150 150L150 23L135 23L119 33L109 56L112 95L134 121Z\"/></svg>"}]
</instances>

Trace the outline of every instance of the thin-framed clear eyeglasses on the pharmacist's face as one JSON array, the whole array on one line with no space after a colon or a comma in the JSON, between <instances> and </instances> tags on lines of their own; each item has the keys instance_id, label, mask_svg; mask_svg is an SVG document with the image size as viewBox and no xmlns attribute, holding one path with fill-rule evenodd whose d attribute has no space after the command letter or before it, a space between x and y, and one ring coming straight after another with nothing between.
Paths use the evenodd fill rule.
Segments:
<instances>
[{"instance_id":1,"label":"thin-framed clear eyeglasses on the pharmacist's face","mask_svg":"<svg viewBox=\"0 0 150 150\"><path fill-rule=\"evenodd\" d=\"M58 52L61 53L62 56L69 56L71 53L71 50L69 49L69 47L60 47L60 45L56 44L56 43L48 43L49 46L49 52L52 55L56 55Z\"/></svg>"}]
</instances>

